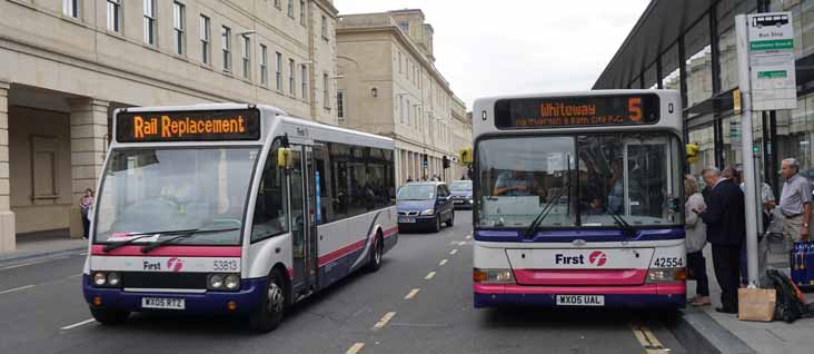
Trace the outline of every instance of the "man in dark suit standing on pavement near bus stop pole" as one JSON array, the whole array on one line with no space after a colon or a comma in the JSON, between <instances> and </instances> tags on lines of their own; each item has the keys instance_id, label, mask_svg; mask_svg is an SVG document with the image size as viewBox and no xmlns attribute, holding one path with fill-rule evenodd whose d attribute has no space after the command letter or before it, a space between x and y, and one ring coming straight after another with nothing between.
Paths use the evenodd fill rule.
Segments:
<instances>
[{"instance_id":1,"label":"man in dark suit standing on pavement near bus stop pole","mask_svg":"<svg viewBox=\"0 0 814 354\"><path fill-rule=\"evenodd\" d=\"M717 312L737 313L741 247L746 239L746 215L741 187L723 178L721 170L707 167L702 177L709 186L705 210L692 210L706 224L707 240L712 244L715 277L721 285L721 304Z\"/></svg>"}]
</instances>

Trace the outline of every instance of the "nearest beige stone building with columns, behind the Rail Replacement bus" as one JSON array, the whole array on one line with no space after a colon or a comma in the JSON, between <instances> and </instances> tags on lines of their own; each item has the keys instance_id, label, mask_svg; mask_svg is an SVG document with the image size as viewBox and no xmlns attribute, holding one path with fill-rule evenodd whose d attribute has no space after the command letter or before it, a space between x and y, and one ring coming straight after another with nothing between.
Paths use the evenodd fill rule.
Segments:
<instances>
[{"instance_id":1,"label":"nearest beige stone building with columns, behind the Rail Replacement bus","mask_svg":"<svg viewBox=\"0 0 814 354\"><path fill-rule=\"evenodd\" d=\"M18 234L81 235L117 107L258 102L335 125L337 13L331 0L0 0L0 252Z\"/></svg>"}]
</instances>

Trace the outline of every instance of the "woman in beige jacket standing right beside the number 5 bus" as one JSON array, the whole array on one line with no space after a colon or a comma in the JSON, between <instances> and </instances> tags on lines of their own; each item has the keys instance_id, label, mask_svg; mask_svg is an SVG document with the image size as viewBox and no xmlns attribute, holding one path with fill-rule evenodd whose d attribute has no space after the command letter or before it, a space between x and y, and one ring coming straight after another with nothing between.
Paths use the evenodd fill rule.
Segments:
<instances>
[{"instance_id":1,"label":"woman in beige jacket standing right beside the number 5 bus","mask_svg":"<svg viewBox=\"0 0 814 354\"><path fill-rule=\"evenodd\" d=\"M704 197L698 190L698 180L693 175L684 176L684 190L689 196L684 205L686 214L684 228L686 229L687 243L687 269L696 281L695 297L689 301L691 305L703 306L712 304L709 299L709 282L706 277L706 259L704 259L704 246L706 246L706 224L692 210L706 209Z\"/></svg>"}]
</instances>

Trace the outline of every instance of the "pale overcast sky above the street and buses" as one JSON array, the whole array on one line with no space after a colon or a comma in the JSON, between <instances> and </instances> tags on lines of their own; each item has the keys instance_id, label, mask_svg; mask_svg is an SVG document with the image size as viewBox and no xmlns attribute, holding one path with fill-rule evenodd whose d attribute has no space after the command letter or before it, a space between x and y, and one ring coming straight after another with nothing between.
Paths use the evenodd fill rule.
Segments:
<instances>
[{"instance_id":1,"label":"pale overcast sky above the street and buses","mask_svg":"<svg viewBox=\"0 0 814 354\"><path fill-rule=\"evenodd\" d=\"M421 9L436 67L478 97L589 90L649 0L335 0L340 14Z\"/></svg>"}]
</instances>

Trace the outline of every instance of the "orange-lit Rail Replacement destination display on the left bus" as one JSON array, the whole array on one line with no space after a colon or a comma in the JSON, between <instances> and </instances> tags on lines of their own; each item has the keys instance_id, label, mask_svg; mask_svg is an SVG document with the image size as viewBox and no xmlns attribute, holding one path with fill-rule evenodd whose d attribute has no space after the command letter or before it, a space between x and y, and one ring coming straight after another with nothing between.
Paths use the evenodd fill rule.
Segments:
<instances>
[{"instance_id":1,"label":"orange-lit Rail Replacement destination display on the left bus","mask_svg":"<svg viewBox=\"0 0 814 354\"><path fill-rule=\"evenodd\" d=\"M172 112L121 112L116 120L119 142L257 140L257 109Z\"/></svg>"}]
</instances>

